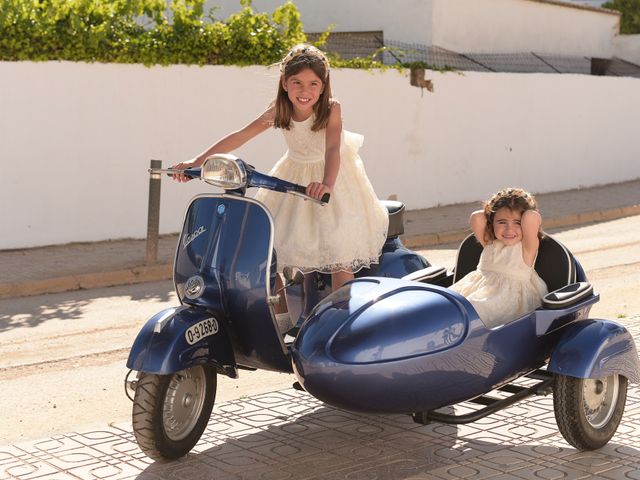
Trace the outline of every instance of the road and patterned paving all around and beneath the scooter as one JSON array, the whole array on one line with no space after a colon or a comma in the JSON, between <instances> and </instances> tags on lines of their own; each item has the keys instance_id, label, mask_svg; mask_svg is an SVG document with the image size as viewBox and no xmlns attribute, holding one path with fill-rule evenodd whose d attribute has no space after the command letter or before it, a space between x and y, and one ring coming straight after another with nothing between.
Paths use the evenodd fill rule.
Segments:
<instances>
[{"instance_id":1,"label":"road and patterned paving all around and beneath the scooter","mask_svg":"<svg viewBox=\"0 0 640 480\"><path fill-rule=\"evenodd\" d=\"M583 263L602 295L592 316L628 323L638 342L640 216L554 234ZM423 253L434 264L451 265L455 248L445 245ZM473 426L417 427L402 416L364 416L326 408L291 390L292 377L265 372L243 372L240 381L221 379L215 410L218 422L212 422L198 448L202 455L184 463L149 467L130 434L131 404L122 388L124 361L144 321L172 304L175 298L169 282L0 301L0 445L18 444L0 448L0 479L29 478L15 472L23 472L25 462L60 462L61 448L65 455L85 455L86 465L93 465L88 459L97 457L87 453L87 445L99 451L109 449L103 467L118 465L122 470L105 478L214 478L201 475L214 471L214 458L216 462L225 457L232 462L249 461L236 455L238 448L248 445L255 447L247 450L250 463L268 466L260 470L264 478L286 478L287 472L293 475L290 478L301 478L292 472L302 470L282 457L296 451L301 458L298 467L313 472L314 465L320 465L330 473L325 478L481 478L499 473L504 478L640 478L640 452L632 447L640 435L637 386L630 391L625 422L612 446L576 454L559 437L548 398L513 407ZM287 438L289 434L293 439ZM38 438L45 440L33 441ZM20 447L25 440L22 445L27 446ZM335 445L335 450L327 445ZM120 464L114 448L122 457ZM11 462L17 462L15 468ZM199 470L202 462L209 470ZM370 474L356 475L365 465L370 465ZM65 471L73 470L72 466ZM41 474L42 468L34 471ZM84 467L78 468L75 476L42 478L99 478L98 474L79 475ZM226 476L219 478L251 477L246 472L229 473L234 469L244 472L241 465L227 465ZM509 475L516 470L517 475ZM142 471L148 476L137 476ZM397 476L398 472L404 473ZM423 476L411 476L418 473Z\"/></svg>"}]
</instances>

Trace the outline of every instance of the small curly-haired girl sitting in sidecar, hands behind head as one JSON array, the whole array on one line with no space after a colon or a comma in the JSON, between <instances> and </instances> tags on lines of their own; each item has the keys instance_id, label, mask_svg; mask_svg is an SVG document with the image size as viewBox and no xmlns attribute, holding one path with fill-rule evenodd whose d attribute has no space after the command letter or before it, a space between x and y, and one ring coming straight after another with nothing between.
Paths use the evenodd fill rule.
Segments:
<instances>
[{"instance_id":1,"label":"small curly-haired girl sitting in sidecar, hands behind head","mask_svg":"<svg viewBox=\"0 0 640 480\"><path fill-rule=\"evenodd\" d=\"M469 223L484 249L477 270L451 289L471 302L489 328L540 306L547 286L533 268L542 236L533 195L521 188L500 190Z\"/></svg>"}]
</instances>

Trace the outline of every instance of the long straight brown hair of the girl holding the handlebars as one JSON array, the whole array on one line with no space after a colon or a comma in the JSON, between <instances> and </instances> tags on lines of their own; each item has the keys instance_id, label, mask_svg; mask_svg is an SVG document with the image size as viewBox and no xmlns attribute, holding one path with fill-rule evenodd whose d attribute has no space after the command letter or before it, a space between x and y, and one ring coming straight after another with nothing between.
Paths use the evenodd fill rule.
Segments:
<instances>
[{"instance_id":1,"label":"long straight brown hair of the girl holding the handlebars","mask_svg":"<svg viewBox=\"0 0 640 480\"><path fill-rule=\"evenodd\" d=\"M280 63L280 79L278 81L278 93L274 101L275 114L273 126L275 128L291 128L291 117L293 115L293 106L289 100L289 96L285 91L282 83L292 75L296 75L305 69L311 69L324 85L324 89L320 94L320 98L313 106L315 120L311 126L311 130L318 131L326 128L329 122L329 113L331 109L331 82L329 78L329 62L317 48L301 44L296 45L284 57Z\"/></svg>"}]
</instances>

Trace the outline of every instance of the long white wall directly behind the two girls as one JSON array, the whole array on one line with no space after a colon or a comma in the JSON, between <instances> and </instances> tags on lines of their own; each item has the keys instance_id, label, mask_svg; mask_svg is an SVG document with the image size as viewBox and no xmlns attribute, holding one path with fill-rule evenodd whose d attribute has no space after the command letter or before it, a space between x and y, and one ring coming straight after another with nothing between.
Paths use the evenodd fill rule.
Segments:
<instances>
[{"instance_id":1,"label":"long white wall directly behind the two girls","mask_svg":"<svg viewBox=\"0 0 640 480\"><path fill-rule=\"evenodd\" d=\"M345 128L379 197L410 209L505 185L549 192L640 178L640 79L335 70ZM0 249L144 238L149 160L191 158L252 120L275 92L265 67L0 62ZM239 152L268 170L270 130ZM211 191L163 179L161 233Z\"/></svg>"}]
</instances>

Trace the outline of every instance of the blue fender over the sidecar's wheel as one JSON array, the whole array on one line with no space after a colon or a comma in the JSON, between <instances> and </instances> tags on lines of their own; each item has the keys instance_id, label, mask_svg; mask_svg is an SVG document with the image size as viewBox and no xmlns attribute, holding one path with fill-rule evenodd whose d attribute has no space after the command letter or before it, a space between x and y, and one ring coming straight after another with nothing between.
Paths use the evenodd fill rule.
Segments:
<instances>
[{"instance_id":1,"label":"blue fender over the sidecar's wheel","mask_svg":"<svg viewBox=\"0 0 640 480\"><path fill-rule=\"evenodd\" d=\"M585 320L569 326L553 350L547 370L576 378L618 373L640 383L640 360L633 337L610 320Z\"/></svg>"}]
</instances>

